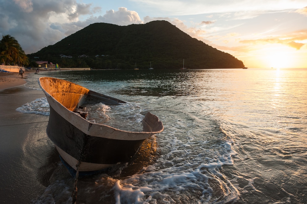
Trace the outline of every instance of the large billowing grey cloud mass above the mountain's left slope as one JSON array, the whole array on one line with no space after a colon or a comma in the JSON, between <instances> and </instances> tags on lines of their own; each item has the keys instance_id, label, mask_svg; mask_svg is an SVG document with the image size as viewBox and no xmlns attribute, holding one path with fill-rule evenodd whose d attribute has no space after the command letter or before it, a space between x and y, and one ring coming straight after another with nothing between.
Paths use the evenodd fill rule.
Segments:
<instances>
[{"instance_id":1,"label":"large billowing grey cloud mass above the mountain's left slope","mask_svg":"<svg viewBox=\"0 0 307 204\"><path fill-rule=\"evenodd\" d=\"M143 21L136 11L121 7L118 11L106 11L103 16L90 16L101 11L92 4L76 0L13 0L1 1L0 37L15 37L26 54L53 45L96 22L118 25L140 24ZM80 17L85 20L79 20Z\"/></svg>"}]
</instances>

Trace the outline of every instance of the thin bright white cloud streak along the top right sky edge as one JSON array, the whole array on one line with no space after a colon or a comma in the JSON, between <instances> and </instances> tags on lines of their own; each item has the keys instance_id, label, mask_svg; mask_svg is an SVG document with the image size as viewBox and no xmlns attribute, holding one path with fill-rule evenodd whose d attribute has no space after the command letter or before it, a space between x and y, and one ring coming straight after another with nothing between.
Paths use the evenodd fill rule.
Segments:
<instances>
[{"instance_id":1,"label":"thin bright white cloud streak along the top right sky edge","mask_svg":"<svg viewBox=\"0 0 307 204\"><path fill-rule=\"evenodd\" d=\"M160 15L197 15L227 12L250 12L250 11L284 11L298 9L306 6L303 0L131 0L137 4L157 10ZM264 6L265 5L265 6Z\"/></svg>"}]
</instances>

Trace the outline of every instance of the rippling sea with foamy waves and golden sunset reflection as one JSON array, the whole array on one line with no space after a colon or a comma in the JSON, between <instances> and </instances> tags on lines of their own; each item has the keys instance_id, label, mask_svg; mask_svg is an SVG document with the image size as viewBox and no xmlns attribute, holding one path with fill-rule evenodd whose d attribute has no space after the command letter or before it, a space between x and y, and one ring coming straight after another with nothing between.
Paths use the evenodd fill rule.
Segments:
<instances>
[{"instance_id":1,"label":"rippling sea with foamy waves and golden sunset reflection","mask_svg":"<svg viewBox=\"0 0 307 204\"><path fill-rule=\"evenodd\" d=\"M128 102L90 107L94 121L138 130L151 112L164 125L131 162L80 178L77 203L307 203L307 69L41 71L26 86L40 89L41 76ZM50 174L32 203L71 203L59 160Z\"/></svg>"}]
</instances>

